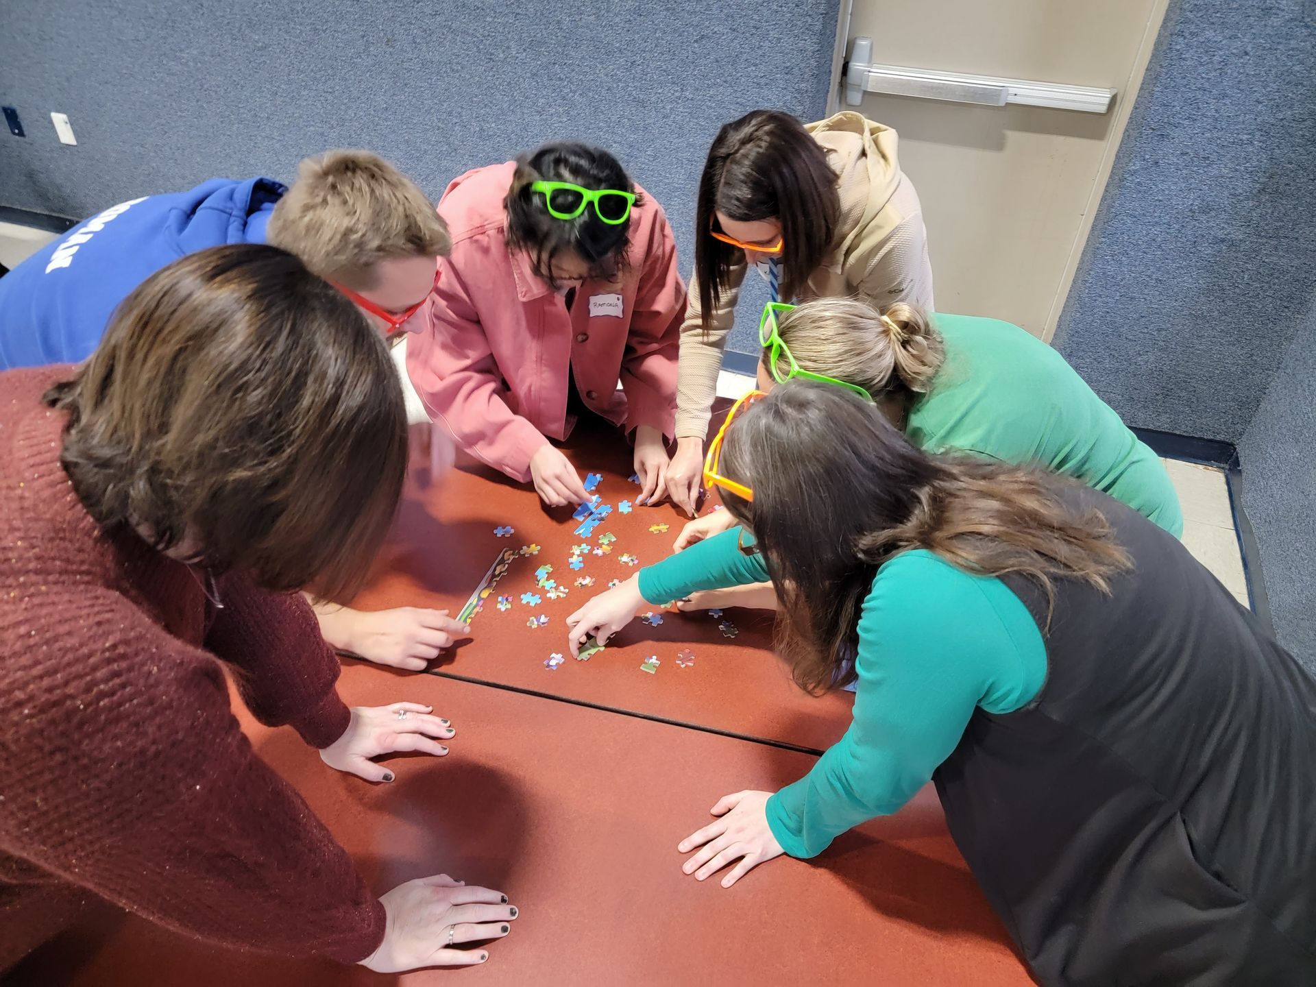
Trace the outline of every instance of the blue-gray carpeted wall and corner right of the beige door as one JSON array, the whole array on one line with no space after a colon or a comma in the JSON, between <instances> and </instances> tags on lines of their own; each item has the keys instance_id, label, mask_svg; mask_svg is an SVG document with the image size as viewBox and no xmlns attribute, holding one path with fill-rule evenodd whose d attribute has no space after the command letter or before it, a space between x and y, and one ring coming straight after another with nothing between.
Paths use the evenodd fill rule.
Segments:
<instances>
[{"instance_id":1,"label":"blue-gray carpeted wall and corner right of the beige door","mask_svg":"<svg viewBox=\"0 0 1316 987\"><path fill-rule=\"evenodd\" d=\"M1316 669L1316 0L1171 0L1055 345L1130 425L1238 446Z\"/></svg>"}]
</instances>

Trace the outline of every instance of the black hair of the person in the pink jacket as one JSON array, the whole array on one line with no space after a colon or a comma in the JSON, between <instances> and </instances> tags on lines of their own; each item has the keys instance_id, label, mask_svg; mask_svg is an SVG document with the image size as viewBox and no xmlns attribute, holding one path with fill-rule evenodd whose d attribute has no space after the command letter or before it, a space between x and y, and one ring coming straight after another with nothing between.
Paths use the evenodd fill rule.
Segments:
<instances>
[{"instance_id":1,"label":"black hair of the person in the pink jacket","mask_svg":"<svg viewBox=\"0 0 1316 987\"><path fill-rule=\"evenodd\" d=\"M554 288L558 283L553 278L553 258L563 250L574 251L588 263L591 278L611 280L625 270L630 218L604 222L592 205L574 220L555 218L544 196L530 190L530 184L540 180L634 192L636 183L621 163L607 151L583 143L546 143L529 158L517 161L504 205L508 243L525 250L534 272ZM633 208L640 204L636 199Z\"/></svg>"}]
</instances>

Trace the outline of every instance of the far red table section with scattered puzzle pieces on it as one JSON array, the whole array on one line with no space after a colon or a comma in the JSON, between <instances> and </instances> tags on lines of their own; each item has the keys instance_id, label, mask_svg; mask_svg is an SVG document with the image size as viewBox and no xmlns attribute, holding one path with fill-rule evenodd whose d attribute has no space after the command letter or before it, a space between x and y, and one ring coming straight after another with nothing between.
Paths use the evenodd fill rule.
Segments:
<instances>
[{"instance_id":1,"label":"far red table section with scattered puzzle pieces on it","mask_svg":"<svg viewBox=\"0 0 1316 987\"><path fill-rule=\"evenodd\" d=\"M811 751L834 744L850 721L851 699L845 692L815 699L791 683L771 654L771 615L728 611L737 628L737 636L728 638L707 613L655 609L663 617L661 626L637 620L588 662L571 659L567 615L605 590L609 579L636 572L622 565L622 554L638 557L641 566L670 555L686 519L670 504L621 513L621 500L633 500L640 487L628 480L630 450L615 436L583 424L566 453L582 474L603 475L597 492L615 508L594 537L572 534L579 522L566 508L544 508L533 490L487 467L466 465L432 484L428 466L417 462L390 544L354 605L446 607L455 615L503 549L538 546L537 554L516 558L475 616L470 641L441 658L437 671ZM649 530L659 524L667 530ZM515 533L496 537L501 525ZM609 532L616 536L609 554L591 551L582 557L582 570L569 567L572 545L588 544L592 550ZM566 597L551 600L536 584L536 570L544 565L553 566L549 578L566 584ZM596 582L576 587L579 576ZM540 603L521 603L526 592ZM511 597L511 609L499 611L500 595ZM526 626L540 615L547 625ZM684 649L695 653L695 665L683 669L675 659ZM549 671L544 661L554 653L566 655L566 663ZM653 675L640 670L650 655L661 661Z\"/></svg>"}]
</instances>

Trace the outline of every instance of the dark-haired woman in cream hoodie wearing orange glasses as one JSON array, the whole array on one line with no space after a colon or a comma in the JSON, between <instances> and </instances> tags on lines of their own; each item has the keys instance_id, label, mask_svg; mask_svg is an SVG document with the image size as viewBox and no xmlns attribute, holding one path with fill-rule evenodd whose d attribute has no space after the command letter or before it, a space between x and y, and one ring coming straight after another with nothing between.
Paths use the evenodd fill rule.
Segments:
<instances>
[{"instance_id":1,"label":"dark-haired woman in cream hoodie wearing orange glasses","mask_svg":"<svg viewBox=\"0 0 1316 987\"><path fill-rule=\"evenodd\" d=\"M772 301L854 296L933 311L923 205L896 132L853 111L816 124L755 109L713 141L699 180L695 274L680 326L672 501L695 513L709 412L745 272Z\"/></svg>"}]
</instances>

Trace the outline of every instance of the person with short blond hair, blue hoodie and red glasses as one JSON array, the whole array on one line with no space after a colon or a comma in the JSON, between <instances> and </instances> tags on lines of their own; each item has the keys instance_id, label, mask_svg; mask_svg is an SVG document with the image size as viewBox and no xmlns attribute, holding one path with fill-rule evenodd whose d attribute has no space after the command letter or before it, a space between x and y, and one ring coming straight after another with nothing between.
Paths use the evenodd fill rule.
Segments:
<instances>
[{"instance_id":1,"label":"person with short blond hair, blue hoodie and red glasses","mask_svg":"<svg viewBox=\"0 0 1316 987\"><path fill-rule=\"evenodd\" d=\"M212 179L133 199L0 278L0 370L83 361L120 303L155 271L207 247L266 242L296 254L390 338L421 326L437 258L451 247L425 192L365 150L307 158L291 187L270 178ZM465 630L440 611L326 603L316 611L340 651L413 671Z\"/></svg>"}]
</instances>

